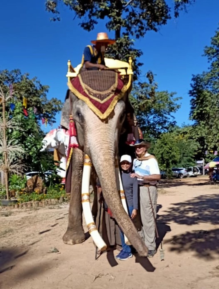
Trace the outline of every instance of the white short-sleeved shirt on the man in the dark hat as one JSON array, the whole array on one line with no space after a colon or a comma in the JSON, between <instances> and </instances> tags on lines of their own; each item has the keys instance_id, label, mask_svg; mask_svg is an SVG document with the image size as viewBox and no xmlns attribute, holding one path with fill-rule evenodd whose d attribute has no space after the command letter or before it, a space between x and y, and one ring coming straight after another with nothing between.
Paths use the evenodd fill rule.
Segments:
<instances>
[{"instance_id":1,"label":"white short-sleeved shirt on the man in the dark hat","mask_svg":"<svg viewBox=\"0 0 219 289\"><path fill-rule=\"evenodd\" d=\"M148 157L150 153L146 153L145 157ZM157 160L151 158L149 160L139 161L138 159L133 160L133 171L140 176L150 176L150 175L160 175L160 169L158 167ZM143 179L137 179L138 184L149 183L151 185L156 185L157 181L146 181Z\"/></svg>"}]
</instances>

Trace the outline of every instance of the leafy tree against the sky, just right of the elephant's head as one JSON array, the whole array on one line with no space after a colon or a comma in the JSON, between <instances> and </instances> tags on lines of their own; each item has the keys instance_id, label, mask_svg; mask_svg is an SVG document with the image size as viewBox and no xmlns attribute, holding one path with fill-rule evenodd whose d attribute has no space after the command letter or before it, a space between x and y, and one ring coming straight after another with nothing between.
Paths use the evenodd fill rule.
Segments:
<instances>
[{"instance_id":1,"label":"leafy tree against the sky, just right of the elephant's head","mask_svg":"<svg viewBox=\"0 0 219 289\"><path fill-rule=\"evenodd\" d=\"M175 92L157 91L152 72L147 73L147 82L134 83L129 99L145 138L156 140L161 133L175 126L172 113L180 108Z\"/></svg>"}]
</instances>

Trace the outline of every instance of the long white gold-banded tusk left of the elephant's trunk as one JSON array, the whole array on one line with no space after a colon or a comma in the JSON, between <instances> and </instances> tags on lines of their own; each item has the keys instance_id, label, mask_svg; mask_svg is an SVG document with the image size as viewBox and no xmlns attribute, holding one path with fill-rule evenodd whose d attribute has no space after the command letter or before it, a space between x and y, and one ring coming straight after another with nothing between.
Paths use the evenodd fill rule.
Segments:
<instances>
[{"instance_id":1,"label":"long white gold-banded tusk left of the elephant's trunk","mask_svg":"<svg viewBox=\"0 0 219 289\"><path fill-rule=\"evenodd\" d=\"M83 168L83 175L82 175L82 190L81 190L81 197L82 197L82 208L84 212L85 222L88 228L88 232L92 237L93 241L95 242L97 248L101 251L106 250L107 245L101 238L97 227L94 223L94 219L92 216L92 212L90 209L90 193L89 193L89 186L90 186L90 170L91 170L92 162L88 155L85 154L84 156L84 168Z\"/></svg>"}]
</instances>

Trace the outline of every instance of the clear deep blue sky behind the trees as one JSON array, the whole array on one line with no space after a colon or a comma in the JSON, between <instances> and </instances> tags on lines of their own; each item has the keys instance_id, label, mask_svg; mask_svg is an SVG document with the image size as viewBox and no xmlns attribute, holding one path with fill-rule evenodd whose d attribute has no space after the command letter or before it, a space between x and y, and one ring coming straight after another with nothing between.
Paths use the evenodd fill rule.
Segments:
<instances>
[{"instance_id":1,"label":"clear deep blue sky behind the trees","mask_svg":"<svg viewBox=\"0 0 219 289\"><path fill-rule=\"evenodd\" d=\"M52 14L45 11L45 0L2 0L0 11L0 70L19 68L30 77L37 76L41 84L49 85L48 98L64 101L67 90L67 60L73 66L81 62L82 52L98 32L105 32L100 22L92 32L85 32L73 20L74 14L63 5L61 22L50 22ZM167 0L171 4L172 0ZM219 1L197 0L171 19L160 31L148 32L135 42L144 55L142 75L148 70L156 74L158 90L177 92L182 97L181 108L174 115L178 125L189 122L190 98L188 90L192 74L208 67L202 56L205 45L218 28ZM108 32L110 38L114 33ZM143 77L144 79L144 77ZM60 115L53 127L58 127ZM48 131L50 127L45 130Z\"/></svg>"}]
</instances>

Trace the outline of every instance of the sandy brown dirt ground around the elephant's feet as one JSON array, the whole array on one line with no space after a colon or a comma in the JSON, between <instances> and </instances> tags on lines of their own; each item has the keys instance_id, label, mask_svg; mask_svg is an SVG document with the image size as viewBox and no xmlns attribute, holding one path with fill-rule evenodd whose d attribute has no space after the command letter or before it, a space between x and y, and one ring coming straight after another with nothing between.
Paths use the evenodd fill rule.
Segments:
<instances>
[{"instance_id":1,"label":"sandy brown dirt ground around the elephant's feet","mask_svg":"<svg viewBox=\"0 0 219 289\"><path fill-rule=\"evenodd\" d=\"M1 210L0 288L218 288L219 186L204 176L163 181L158 188L160 239L150 259L116 261L115 250L95 260L91 238L65 245L67 204Z\"/></svg>"}]
</instances>

